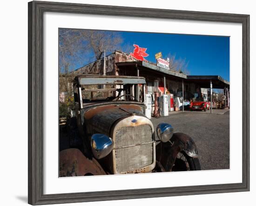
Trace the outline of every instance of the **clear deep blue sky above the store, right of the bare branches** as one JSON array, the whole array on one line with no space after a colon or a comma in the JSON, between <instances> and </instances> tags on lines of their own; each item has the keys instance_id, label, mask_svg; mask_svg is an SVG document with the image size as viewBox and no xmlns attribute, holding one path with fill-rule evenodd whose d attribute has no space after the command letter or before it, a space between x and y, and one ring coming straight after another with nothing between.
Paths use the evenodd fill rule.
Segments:
<instances>
[{"instance_id":1,"label":"clear deep blue sky above the store, right of the bare branches","mask_svg":"<svg viewBox=\"0 0 256 206\"><path fill-rule=\"evenodd\" d=\"M220 75L229 81L229 37L166 33L119 32L123 45L147 48L146 58L155 62L155 53L175 54L186 59L190 75Z\"/></svg>"}]
</instances>

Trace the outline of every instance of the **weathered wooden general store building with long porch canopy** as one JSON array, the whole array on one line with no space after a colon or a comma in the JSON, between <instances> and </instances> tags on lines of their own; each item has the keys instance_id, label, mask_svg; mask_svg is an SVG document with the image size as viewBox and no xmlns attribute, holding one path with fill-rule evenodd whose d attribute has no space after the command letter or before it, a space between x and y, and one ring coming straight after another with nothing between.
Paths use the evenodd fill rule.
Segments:
<instances>
[{"instance_id":1,"label":"weathered wooden general store building with long porch canopy","mask_svg":"<svg viewBox=\"0 0 256 206\"><path fill-rule=\"evenodd\" d=\"M184 100L191 100L197 93L201 96L201 88L224 89L229 93L229 82L222 77L216 76L194 76L179 73L157 66L155 63L137 61L128 54L115 51L105 58L82 66L74 71L75 74L100 74L100 75L127 75L142 76L147 82L146 92L153 94L156 90L161 93L172 93L174 97L182 97ZM164 86L165 85L165 86ZM165 90L163 88L166 88ZM182 91L184 91L182 93Z\"/></svg>"}]
</instances>

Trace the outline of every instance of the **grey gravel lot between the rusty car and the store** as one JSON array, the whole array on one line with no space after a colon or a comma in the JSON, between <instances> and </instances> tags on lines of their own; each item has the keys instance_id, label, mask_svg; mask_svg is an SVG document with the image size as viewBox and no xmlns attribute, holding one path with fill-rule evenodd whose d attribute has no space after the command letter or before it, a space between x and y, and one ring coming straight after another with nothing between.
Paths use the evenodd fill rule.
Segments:
<instances>
[{"instance_id":1,"label":"grey gravel lot between the rusty car and the store","mask_svg":"<svg viewBox=\"0 0 256 206\"><path fill-rule=\"evenodd\" d=\"M229 169L229 111L225 114L184 112L152 118L154 127L165 122L175 132L190 135L198 149L202 170Z\"/></svg>"}]
</instances>

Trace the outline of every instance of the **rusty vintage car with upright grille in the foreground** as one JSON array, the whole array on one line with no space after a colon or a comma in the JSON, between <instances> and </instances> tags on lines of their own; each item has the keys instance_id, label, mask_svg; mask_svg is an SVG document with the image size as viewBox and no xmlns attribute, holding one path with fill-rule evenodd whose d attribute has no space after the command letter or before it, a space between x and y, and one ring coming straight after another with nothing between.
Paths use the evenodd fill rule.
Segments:
<instances>
[{"instance_id":1,"label":"rusty vintage car with upright grille in the foreground","mask_svg":"<svg viewBox=\"0 0 256 206\"><path fill-rule=\"evenodd\" d=\"M60 153L60 176L201 169L195 142L188 135L174 133L166 123L154 130L145 116L145 86L143 77L75 77L74 101L82 147L81 152L69 149Z\"/></svg>"}]
</instances>

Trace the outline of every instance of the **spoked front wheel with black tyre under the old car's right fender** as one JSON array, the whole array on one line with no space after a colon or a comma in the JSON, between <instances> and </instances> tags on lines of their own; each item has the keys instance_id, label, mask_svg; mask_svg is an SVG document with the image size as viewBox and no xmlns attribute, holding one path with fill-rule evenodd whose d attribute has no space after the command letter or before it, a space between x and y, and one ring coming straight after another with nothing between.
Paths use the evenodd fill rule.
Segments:
<instances>
[{"instance_id":1,"label":"spoked front wheel with black tyre under the old car's right fender","mask_svg":"<svg viewBox=\"0 0 256 206\"><path fill-rule=\"evenodd\" d=\"M201 170L198 158L189 157L184 151L178 153L172 171L194 171Z\"/></svg>"}]
</instances>

